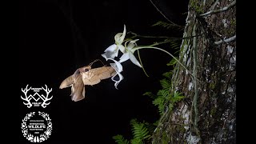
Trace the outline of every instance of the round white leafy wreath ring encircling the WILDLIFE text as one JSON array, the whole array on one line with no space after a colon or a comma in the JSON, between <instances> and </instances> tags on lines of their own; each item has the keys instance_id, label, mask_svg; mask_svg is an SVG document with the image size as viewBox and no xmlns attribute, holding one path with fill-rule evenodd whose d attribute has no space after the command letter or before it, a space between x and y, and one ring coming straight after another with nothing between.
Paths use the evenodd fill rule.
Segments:
<instances>
[{"instance_id":1,"label":"round white leafy wreath ring encircling the WILDLIFE text","mask_svg":"<svg viewBox=\"0 0 256 144\"><path fill-rule=\"evenodd\" d=\"M25 118L22 119L22 133L23 133L23 136L30 142L43 142L50 137L51 131L53 129L52 122L49 117L49 114L38 111L38 115L41 115L42 118L46 120L47 127L46 127L46 131L44 131L43 134L40 134L39 136L34 136L33 134L29 133L28 126L26 125L27 120L32 118L34 114L35 112L30 112L29 114L26 114Z\"/></svg>"}]
</instances>

